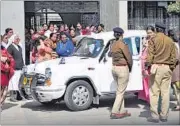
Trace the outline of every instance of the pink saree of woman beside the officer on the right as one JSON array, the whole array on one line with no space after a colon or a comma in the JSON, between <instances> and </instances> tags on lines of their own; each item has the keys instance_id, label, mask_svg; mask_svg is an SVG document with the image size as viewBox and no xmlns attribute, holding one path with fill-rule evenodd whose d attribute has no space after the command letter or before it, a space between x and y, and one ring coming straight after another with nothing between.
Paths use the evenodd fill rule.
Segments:
<instances>
[{"instance_id":1,"label":"pink saree of woman beside the officer on the right","mask_svg":"<svg viewBox=\"0 0 180 126\"><path fill-rule=\"evenodd\" d=\"M142 74L143 74L143 90L139 91L138 99L147 101L149 103L149 71L145 70L144 65L147 57L147 47L143 49L141 55Z\"/></svg>"}]
</instances>

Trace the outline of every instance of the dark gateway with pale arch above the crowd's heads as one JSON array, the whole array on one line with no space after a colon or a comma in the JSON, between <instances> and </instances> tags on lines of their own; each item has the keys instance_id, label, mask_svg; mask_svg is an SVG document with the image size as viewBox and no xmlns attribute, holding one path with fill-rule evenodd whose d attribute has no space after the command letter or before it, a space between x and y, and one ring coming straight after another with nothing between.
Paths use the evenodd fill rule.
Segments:
<instances>
[{"instance_id":1,"label":"dark gateway with pale arch above the crowd's heads","mask_svg":"<svg viewBox=\"0 0 180 126\"><path fill-rule=\"evenodd\" d=\"M50 22L97 25L99 13L99 1L25 1L25 26L38 30L43 23Z\"/></svg>"}]
</instances>

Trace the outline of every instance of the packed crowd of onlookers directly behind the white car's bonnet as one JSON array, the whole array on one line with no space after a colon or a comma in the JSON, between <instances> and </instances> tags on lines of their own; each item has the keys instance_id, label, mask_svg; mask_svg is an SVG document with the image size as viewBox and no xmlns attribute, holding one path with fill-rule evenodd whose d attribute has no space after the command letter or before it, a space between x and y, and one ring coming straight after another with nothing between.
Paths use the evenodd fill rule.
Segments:
<instances>
[{"instance_id":1,"label":"packed crowd of onlookers directly behind the white car's bonnet","mask_svg":"<svg viewBox=\"0 0 180 126\"><path fill-rule=\"evenodd\" d=\"M80 23L76 27L61 24L59 28L50 23L49 26L43 24L37 32L34 29L26 30L26 64L69 56L77 46L77 36L103 31L103 24L83 28Z\"/></svg>"}]
</instances>

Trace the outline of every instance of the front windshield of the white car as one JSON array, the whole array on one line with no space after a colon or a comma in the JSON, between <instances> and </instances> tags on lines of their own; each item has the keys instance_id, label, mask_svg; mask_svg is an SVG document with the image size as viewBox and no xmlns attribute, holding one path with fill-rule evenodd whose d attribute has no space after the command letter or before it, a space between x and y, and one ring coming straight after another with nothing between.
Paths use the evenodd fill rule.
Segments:
<instances>
[{"instance_id":1,"label":"front windshield of the white car","mask_svg":"<svg viewBox=\"0 0 180 126\"><path fill-rule=\"evenodd\" d=\"M104 41L94 38L83 38L80 40L74 52L74 56L97 57L104 47Z\"/></svg>"}]
</instances>

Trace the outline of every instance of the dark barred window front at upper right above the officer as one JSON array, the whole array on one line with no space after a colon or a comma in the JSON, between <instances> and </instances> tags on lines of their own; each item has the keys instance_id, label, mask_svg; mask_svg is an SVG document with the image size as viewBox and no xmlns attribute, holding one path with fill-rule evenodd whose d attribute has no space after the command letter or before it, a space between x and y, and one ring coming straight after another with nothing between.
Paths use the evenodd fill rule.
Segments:
<instances>
[{"instance_id":1,"label":"dark barred window front at upper right above the officer","mask_svg":"<svg viewBox=\"0 0 180 126\"><path fill-rule=\"evenodd\" d=\"M128 29L145 29L147 25L163 22L167 29L179 31L180 17L167 13L172 1L129 1Z\"/></svg>"}]
</instances>

